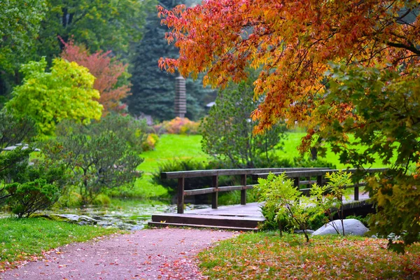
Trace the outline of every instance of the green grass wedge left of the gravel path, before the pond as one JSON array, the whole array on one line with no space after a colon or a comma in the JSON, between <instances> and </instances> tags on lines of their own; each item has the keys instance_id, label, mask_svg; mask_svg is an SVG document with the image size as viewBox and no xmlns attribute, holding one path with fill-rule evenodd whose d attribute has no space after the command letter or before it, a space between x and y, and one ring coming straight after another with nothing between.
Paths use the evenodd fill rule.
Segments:
<instances>
[{"instance_id":1,"label":"green grass wedge left of the gravel path, before the pond","mask_svg":"<svg viewBox=\"0 0 420 280\"><path fill-rule=\"evenodd\" d=\"M118 231L43 218L0 218L0 272L25 260L36 260L43 251Z\"/></svg>"}]
</instances>

